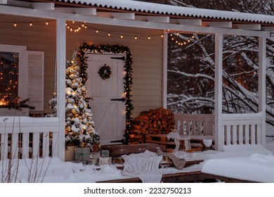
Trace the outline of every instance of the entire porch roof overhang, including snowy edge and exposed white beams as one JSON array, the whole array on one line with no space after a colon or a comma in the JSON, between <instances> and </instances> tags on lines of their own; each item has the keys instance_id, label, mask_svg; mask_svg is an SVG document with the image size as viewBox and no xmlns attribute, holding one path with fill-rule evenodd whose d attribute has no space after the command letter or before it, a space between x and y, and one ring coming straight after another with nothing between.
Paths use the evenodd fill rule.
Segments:
<instances>
[{"instance_id":1,"label":"entire porch roof overhang, including snowy edge and exposed white beams","mask_svg":"<svg viewBox=\"0 0 274 197\"><path fill-rule=\"evenodd\" d=\"M228 34L241 34L241 31L245 30L274 32L274 16L272 15L187 8L152 4L142 1L0 0L0 4L4 6L74 14L74 18L81 18L82 20L89 19L88 21L90 21L90 23L93 22L91 16L93 16L93 18L101 18L101 24L107 24L107 20L111 21L115 19L115 22L117 22L116 25L142 27L142 24L147 22L154 26L143 25L143 27L154 27L158 30L169 29L177 31L188 29L193 32L195 32L195 30L200 32L199 30L201 29L199 27L209 27L207 31L201 32L214 33L216 32L214 28L225 29L223 33ZM110 22L110 24L111 23L112 22ZM249 33L243 34L249 35ZM256 34L258 33L255 33L255 35Z\"/></svg>"}]
</instances>

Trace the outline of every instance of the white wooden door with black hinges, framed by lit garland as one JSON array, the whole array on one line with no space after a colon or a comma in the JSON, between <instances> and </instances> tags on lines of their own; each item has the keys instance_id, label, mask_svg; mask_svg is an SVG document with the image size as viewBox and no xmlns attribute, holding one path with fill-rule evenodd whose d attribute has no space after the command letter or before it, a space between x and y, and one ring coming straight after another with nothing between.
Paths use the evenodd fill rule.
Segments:
<instances>
[{"instance_id":1,"label":"white wooden door with black hinges, framed by lit garland","mask_svg":"<svg viewBox=\"0 0 274 197\"><path fill-rule=\"evenodd\" d=\"M86 53L88 63L88 77L86 80L87 97L93 114L95 129L100 134L100 144L115 144L124 138L126 129L126 108L124 101L113 99L124 98L124 57L121 54L110 53ZM111 68L111 76L103 80L98 70L108 65ZM117 144L117 143L116 143Z\"/></svg>"}]
</instances>

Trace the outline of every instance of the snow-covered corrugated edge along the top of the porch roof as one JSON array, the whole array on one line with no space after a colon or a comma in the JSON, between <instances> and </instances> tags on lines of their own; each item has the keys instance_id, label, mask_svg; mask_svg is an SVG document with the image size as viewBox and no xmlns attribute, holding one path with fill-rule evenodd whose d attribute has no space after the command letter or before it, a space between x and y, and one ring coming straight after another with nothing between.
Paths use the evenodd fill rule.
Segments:
<instances>
[{"instance_id":1,"label":"snow-covered corrugated edge along the top of the porch roof","mask_svg":"<svg viewBox=\"0 0 274 197\"><path fill-rule=\"evenodd\" d=\"M55 0L55 2L80 4L96 8L108 8L113 11L133 11L140 14L169 15L174 18L202 18L207 20L230 20L240 23L274 24L274 16L253 13L240 13L233 11L217 11L202 8L188 8L165 4L154 4L133 0Z\"/></svg>"}]
</instances>

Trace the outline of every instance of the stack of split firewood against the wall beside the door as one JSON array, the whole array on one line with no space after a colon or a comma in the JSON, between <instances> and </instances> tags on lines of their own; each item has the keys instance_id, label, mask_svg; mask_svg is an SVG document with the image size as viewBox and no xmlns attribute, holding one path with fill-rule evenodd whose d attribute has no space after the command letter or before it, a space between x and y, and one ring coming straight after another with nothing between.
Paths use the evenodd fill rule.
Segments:
<instances>
[{"instance_id":1,"label":"stack of split firewood against the wall beside the door","mask_svg":"<svg viewBox=\"0 0 274 197\"><path fill-rule=\"evenodd\" d=\"M133 120L129 142L144 143L146 134L168 134L174 125L174 114L170 110L157 108L143 111Z\"/></svg>"}]
</instances>

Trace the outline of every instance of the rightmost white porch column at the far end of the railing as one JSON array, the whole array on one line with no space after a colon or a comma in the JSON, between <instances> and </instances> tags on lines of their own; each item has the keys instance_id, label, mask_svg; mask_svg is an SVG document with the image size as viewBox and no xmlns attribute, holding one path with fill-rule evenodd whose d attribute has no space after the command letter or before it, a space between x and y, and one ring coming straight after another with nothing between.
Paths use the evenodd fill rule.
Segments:
<instances>
[{"instance_id":1,"label":"rightmost white porch column at the far end of the railing","mask_svg":"<svg viewBox=\"0 0 274 197\"><path fill-rule=\"evenodd\" d=\"M261 139L258 143L266 144L266 37L259 37L259 112L261 113L262 125Z\"/></svg>"}]
</instances>

